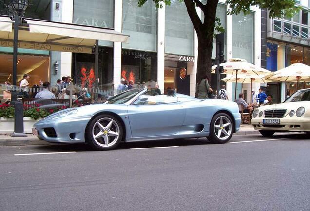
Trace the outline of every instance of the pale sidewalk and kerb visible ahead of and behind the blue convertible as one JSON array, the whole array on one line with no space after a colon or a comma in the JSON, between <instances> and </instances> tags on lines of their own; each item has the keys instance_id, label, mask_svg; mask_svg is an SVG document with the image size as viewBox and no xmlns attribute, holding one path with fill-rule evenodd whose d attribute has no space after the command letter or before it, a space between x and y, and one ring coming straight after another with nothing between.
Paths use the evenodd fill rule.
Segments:
<instances>
[{"instance_id":1,"label":"pale sidewalk and kerb visible ahead of and behind the blue convertible","mask_svg":"<svg viewBox=\"0 0 310 211\"><path fill-rule=\"evenodd\" d=\"M258 134L252 125L241 125L240 130L234 135ZM32 134L27 134L27 137L11 137L10 134L0 134L0 146L19 146L19 145L47 145L53 144L37 138Z\"/></svg>"}]
</instances>

